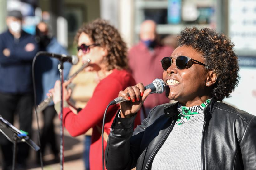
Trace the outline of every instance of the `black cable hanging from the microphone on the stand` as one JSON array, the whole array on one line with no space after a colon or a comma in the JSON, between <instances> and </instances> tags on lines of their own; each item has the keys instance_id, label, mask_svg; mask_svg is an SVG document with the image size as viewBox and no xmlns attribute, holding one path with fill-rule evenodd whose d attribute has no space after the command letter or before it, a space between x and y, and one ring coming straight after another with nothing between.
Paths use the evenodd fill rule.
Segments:
<instances>
[{"instance_id":1,"label":"black cable hanging from the microphone on the stand","mask_svg":"<svg viewBox=\"0 0 256 170\"><path fill-rule=\"evenodd\" d=\"M38 144L39 144L39 147L40 147L39 155L40 155L40 165L41 165L42 170L43 170L44 168L43 168L43 157L42 157L42 150L41 150L40 127L39 127L38 113L37 113L37 110L36 110L36 83L35 83L35 71L34 71L34 68L35 68L36 58L37 58L38 56L40 56L41 54L44 54L44 53L45 53L45 51L39 51L39 52L37 52L37 53L36 53L36 56L34 57L33 62L32 62L32 80L33 80L34 107L35 107L34 109L35 109L35 113L36 113L37 138L38 138Z\"/></svg>"}]
</instances>

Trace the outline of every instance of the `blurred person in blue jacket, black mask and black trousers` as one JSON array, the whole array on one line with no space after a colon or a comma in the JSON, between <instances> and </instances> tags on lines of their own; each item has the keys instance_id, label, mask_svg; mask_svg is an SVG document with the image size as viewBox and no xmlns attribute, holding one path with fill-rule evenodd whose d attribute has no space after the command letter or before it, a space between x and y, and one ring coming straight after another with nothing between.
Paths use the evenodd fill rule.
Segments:
<instances>
[{"instance_id":1,"label":"blurred person in blue jacket, black mask and black trousers","mask_svg":"<svg viewBox=\"0 0 256 170\"><path fill-rule=\"evenodd\" d=\"M49 53L66 54L68 51L58 43L57 39L50 36L49 26L45 22L36 25L36 39L39 43L40 51ZM59 80L58 70L59 60L48 56L39 56L35 63L36 75L36 97L37 105L47 98L48 91L54 87L55 81ZM67 79L71 63L64 62L63 78ZM45 110L43 110L43 130L41 133L41 151L45 153L45 146L50 145L51 152L55 156L55 161L59 158L59 149L56 144L56 136L54 131L54 118L57 115L54 109L54 103L51 102ZM38 152L39 153L39 152ZM39 158L38 158L39 160Z\"/></svg>"}]
</instances>

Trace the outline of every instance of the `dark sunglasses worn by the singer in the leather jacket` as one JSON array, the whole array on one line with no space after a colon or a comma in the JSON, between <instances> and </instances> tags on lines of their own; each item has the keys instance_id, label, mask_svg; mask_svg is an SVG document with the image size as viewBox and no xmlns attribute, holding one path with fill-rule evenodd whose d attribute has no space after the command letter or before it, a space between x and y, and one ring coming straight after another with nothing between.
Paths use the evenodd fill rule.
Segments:
<instances>
[{"instance_id":1,"label":"dark sunglasses worn by the singer in the leather jacket","mask_svg":"<svg viewBox=\"0 0 256 170\"><path fill-rule=\"evenodd\" d=\"M173 63L173 60L172 60L173 57L164 57L162 60L161 60L161 63L162 63L162 67L163 69L166 71ZM208 67L206 64L204 63L201 63L200 61L197 61L197 60L194 60L192 58L189 58L187 56L178 56L176 58L176 61L175 61L175 64L176 64L176 67L180 70L183 70L183 69L186 69L188 67L188 62L189 60L192 60L192 61L196 61L197 63L196 64L200 64L200 65L203 65L203 66L206 66Z\"/></svg>"}]
</instances>

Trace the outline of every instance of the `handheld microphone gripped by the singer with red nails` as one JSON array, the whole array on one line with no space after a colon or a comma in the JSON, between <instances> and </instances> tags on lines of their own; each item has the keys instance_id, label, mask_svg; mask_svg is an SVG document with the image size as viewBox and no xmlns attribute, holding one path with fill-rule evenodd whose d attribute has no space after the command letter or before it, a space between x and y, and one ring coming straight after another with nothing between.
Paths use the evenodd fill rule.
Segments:
<instances>
[{"instance_id":1,"label":"handheld microphone gripped by the singer with red nails","mask_svg":"<svg viewBox=\"0 0 256 170\"><path fill-rule=\"evenodd\" d=\"M144 87L144 90L146 89L151 89L151 92L149 94L152 93L163 93L165 91L166 88L166 84L164 82L164 80L162 79L155 79L151 84L147 85ZM124 97L117 97L114 100L112 100L109 104L110 105L115 105L121 102L127 101Z\"/></svg>"}]
</instances>

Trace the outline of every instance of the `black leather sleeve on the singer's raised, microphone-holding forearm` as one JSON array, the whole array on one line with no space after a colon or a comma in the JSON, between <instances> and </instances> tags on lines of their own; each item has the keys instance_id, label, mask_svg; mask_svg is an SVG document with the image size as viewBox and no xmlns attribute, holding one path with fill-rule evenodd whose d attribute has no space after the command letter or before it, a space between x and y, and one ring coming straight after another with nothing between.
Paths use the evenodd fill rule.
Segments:
<instances>
[{"instance_id":1,"label":"black leather sleeve on the singer's raised, microphone-holding forearm","mask_svg":"<svg viewBox=\"0 0 256 170\"><path fill-rule=\"evenodd\" d=\"M144 133L142 127L146 126L149 118L144 119L141 125L138 125L133 131L135 117L119 118L116 115L105 150L105 162L108 170L130 170L136 166L140 141Z\"/></svg>"}]
</instances>

